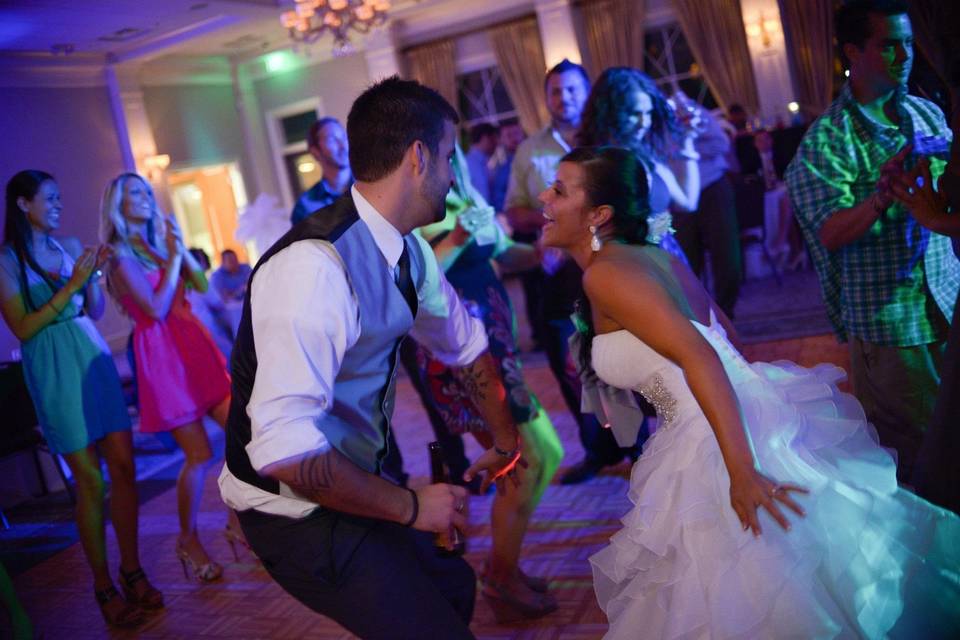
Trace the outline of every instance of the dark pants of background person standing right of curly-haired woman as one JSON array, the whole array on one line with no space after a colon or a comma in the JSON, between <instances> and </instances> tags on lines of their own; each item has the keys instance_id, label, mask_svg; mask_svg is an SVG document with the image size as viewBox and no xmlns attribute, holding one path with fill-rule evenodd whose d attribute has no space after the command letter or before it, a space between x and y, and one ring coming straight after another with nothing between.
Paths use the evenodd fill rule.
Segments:
<instances>
[{"instance_id":1,"label":"dark pants of background person standing right of curly-haired woman","mask_svg":"<svg viewBox=\"0 0 960 640\"><path fill-rule=\"evenodd\" d=\"M704 252L710 252L713 297L729 317L740 295L743 256L740 253L740 225L737 222L733 186L724 176L700 192L696 213L673 217L677 242L698 276L703 273Z\"/></svg>"}]
</instances>

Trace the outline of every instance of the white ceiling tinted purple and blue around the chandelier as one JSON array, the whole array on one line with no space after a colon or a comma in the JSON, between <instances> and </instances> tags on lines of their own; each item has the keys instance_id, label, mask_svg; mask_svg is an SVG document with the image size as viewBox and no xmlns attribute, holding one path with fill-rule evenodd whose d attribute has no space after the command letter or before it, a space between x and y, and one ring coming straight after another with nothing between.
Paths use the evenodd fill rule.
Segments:
<instances>
[{"instance_id":1,"label":"white ceiling tinted purple and blue around the chandelier","mask_svg":"<svg viewBox=\"0 0 960 640\"><path fill-rule=\"evenodd\" d=\"M235 56L290 44L292 0L0 0L0 56L146 61ZM533 0L394 0L397 38L411 44L533 12ZM362 41L362 38L357 38ZM317 46L323 46L318 43Z\"/></svg>"}]
</instances>

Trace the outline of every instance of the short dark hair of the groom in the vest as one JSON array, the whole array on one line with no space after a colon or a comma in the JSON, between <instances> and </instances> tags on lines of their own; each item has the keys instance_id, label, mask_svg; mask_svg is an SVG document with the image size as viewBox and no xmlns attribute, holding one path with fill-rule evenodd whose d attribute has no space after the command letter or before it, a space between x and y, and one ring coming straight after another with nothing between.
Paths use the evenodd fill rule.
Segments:
<instances>
[{"instance_id":1,"label":"short dark hair of the groom in the vest","mask_svg":"<svg viewBox=\"0 0 960 640\"><path fill-rule=\"evenodd\" d=\"M444 122L460 118L439 93L413 80L392 76L360 94L347 116L350 167L357 180L375 182L400 166L419 140L436 155Z\"/></svg>"}]
</instances>

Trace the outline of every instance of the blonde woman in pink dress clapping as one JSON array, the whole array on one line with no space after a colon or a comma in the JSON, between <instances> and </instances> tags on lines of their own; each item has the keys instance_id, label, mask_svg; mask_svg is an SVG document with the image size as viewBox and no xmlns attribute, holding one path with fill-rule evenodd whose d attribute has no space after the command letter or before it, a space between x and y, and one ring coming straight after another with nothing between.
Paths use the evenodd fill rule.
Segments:
<instances>
[{"instance_id":1,"label":"blonde woman in pink dress clapping","mask_svg":"<svg viewBox=\"0 0 960 640\"><path fill-rule=\"evenodd\" d=\"M221 426L226 422L230 378L223 355L184 296L187 286L205 291L207 279L184 249L176 221L164 218L150 185L137 174L121 174L107 187L100 235L116 253L108 289L134 322L140 431L169 432L185 457L177 478L177 557L185 576L189 568L201 582L217 580L223 568L197 536L212 458L202 420L209 415Z\"/></svg>"}]
</instances>

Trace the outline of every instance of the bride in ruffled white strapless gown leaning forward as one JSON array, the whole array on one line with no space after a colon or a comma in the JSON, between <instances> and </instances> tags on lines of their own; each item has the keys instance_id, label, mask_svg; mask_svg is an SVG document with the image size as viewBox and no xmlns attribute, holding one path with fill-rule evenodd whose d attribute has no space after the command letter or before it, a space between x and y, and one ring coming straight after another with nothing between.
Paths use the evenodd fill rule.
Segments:
<instances>
[{"instance_id":1,"label":"bride in ruffled white strapless gown leaning forward","mask_svg":"<svg viewBox=\"0 0 960 640\"><path fill-rule=\"evenodd\" d=\"M640 240L646 184L630 152L576 149L540 196L544 243L584 270L586 362L659 417L590 559L606 637L960 637L960 518L898 488L842 370L743 359Z\"/></svg>"}]
</instances>

